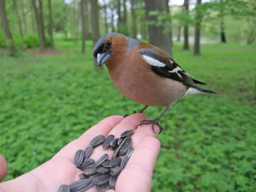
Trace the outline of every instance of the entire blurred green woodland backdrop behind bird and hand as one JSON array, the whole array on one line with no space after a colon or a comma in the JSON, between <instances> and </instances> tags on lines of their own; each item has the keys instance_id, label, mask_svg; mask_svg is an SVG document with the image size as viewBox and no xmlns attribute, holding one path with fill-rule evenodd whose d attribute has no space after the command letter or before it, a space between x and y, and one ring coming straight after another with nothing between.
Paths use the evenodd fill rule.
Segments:
<instances>
[{"instance_id":1,"label":"entire blurred green woodland backdrop behind bird and hand","mask_svg":"<svg viewBox=\"0 0 256 192\"><path fill-rule=\"evenodd\" d=\"M95 42L115 31L161 47L223 94L186 97L161 120L152 191L255 191L255 15L255 0L0 0L4 180L102 118L142 108L93 59Z\"/></svg>"}]
</instances>

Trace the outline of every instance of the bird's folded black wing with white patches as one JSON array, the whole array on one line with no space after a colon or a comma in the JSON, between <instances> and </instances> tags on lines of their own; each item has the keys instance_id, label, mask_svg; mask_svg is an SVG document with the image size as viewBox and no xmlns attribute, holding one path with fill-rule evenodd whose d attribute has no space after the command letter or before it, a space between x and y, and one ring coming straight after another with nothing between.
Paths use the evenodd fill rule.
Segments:
<instances>
[{"instance_id":1,"label":"bird's folded black wing with white patches","mask_svg":"<svg viewBox=\"0 0 256 192\"><path fill-rule=\"evenodd\" d=\"M196 83L205 84L196 81L185 72L170 56L153 45L140 42L138 52L144 60L150 65L151 70L161 77L168 77L175 81L180 81L186 86L196 86Z\"/></svg>"}]
</instances>

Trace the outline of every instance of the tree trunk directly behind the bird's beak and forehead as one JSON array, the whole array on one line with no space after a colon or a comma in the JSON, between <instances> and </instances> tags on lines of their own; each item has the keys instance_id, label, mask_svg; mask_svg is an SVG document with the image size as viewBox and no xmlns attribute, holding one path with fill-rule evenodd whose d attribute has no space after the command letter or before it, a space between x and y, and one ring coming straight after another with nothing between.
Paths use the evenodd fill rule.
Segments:
<instances>
[{"instance_id":1,"label":"tree trunk directly behind the bird's beak and forehead","mask_svg":"<svg viewBox=\"0 0 256 192\"><path fill-rule=\"evenodd\" d=\"M91 3L91 14L92 14L92 40L93 45L96 44L96 42L100 38L100 31L99 31L99 7L98 7L98 0L90 0ZM94 58L94 68L95 69L101 69L102 67L98 66L97 60Z\"/></svg>"}]
</instances>

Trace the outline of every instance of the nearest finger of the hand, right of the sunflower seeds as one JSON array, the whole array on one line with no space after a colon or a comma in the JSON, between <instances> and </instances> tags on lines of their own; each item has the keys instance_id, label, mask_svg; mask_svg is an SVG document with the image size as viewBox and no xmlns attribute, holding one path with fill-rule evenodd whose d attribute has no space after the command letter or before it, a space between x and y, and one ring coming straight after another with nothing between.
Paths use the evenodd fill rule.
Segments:
<instances>
[{"instance_id":1,"label":"nearest finger of the hand, right of the sunflower seeds","mask_svg":"<svg viewBox=\"0 0 256 192\"><path fill-rule=\"evenodd\" d=\"M145 137L134 148L125 169L116 182L116 192L148 192L151 189L152 173L160 150L160 142Z\"/></svg>"}]
</instances>

